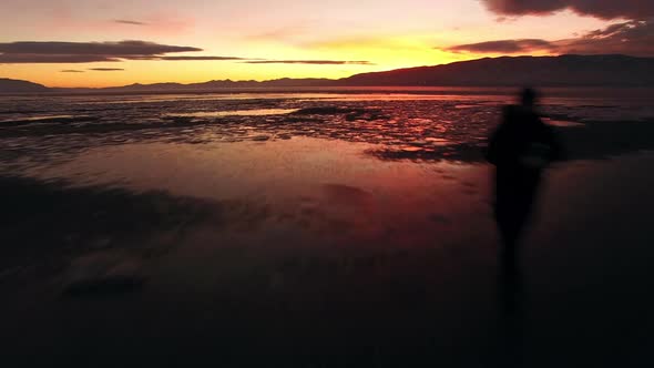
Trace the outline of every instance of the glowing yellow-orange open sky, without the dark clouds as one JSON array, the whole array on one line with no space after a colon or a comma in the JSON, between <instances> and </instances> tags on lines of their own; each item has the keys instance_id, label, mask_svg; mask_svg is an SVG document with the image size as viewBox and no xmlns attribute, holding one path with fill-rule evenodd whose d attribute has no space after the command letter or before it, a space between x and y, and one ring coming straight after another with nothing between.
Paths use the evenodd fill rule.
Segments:
<instances>
[{"instance_id":1,"label":"glowing yellow-orange open sky, without the dark clouds","mask_svg":"<svg viewBox=\"0 0 654 368\"><path fill-rule=\"evenodd\" d=\"M21 51L20 62L7 62L2 57L13 55L8 51L2 55L0 47L0 76L49 86L343 78L505 53L444 50L453 45L504 39L564 40L624 21L582 17L570 10L504 19L478 0L23 0L4 3L2 8L0 44L38 41L42 48L52 41L86 44L142 40L202 49L136 58L150 60L119 55L120 61L31 63L25 58L33 57L34 51L28 57ZM551 51L518 53L548 54ZM243 60L159 59L163 55ZM294 63L246 62L264 59Z\"/></svg>"}]
</instances>

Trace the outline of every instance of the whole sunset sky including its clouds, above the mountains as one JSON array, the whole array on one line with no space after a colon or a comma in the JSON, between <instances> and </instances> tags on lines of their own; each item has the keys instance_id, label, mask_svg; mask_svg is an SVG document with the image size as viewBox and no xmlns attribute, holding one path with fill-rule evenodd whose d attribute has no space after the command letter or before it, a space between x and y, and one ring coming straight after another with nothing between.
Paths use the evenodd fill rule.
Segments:
<instances>
[{"instance_id":1,"label":"whole sunset sky including its clouds, above the mountains","mask_svg":"<svg viewBox=\"0 0 654 368\"><path fill-rule=\"evenodd\" d=\"M9 0L0 78L345 78L501 55L654 57L652 0Z\"/></svg>"}]
</instances>

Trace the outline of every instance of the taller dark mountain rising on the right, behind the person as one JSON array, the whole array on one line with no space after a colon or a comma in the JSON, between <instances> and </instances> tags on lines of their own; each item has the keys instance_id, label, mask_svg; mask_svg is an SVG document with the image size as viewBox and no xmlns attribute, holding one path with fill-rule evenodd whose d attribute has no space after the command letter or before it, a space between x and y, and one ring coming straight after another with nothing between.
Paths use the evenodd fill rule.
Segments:
<instances>
[{"instance_id":1,"label":"taller dark mountain rising on the right, behind the person","mask_svg":"<svg viewBox=\"0 0 654 368\"><path fill-rule=\"evenodd\" d=\"M479 59L357 74L339 85L654 86L654 58L561 55Z\"/></svg>"}]
</instances>

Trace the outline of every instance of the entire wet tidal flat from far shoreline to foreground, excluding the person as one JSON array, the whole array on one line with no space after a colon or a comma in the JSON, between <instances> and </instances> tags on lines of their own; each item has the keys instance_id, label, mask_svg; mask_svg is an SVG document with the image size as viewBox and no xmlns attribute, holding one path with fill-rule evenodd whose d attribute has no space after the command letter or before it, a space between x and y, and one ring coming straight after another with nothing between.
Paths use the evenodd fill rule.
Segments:
<instances>
[{"instance_id":1,"label":"entire wet tidal flat from far shoreline to foreground, excluding the person","mask_svg":"<svg viewBox=\"0 0 654 368\"><path fill-rule=\"evenodd\" d=\"M214 99L227 113L182 116L194 99L119 99L134 121L94 100L81 123L10 116L12 367L653 362L650 121L545 106L569 160L509 285L481 154L504 98ZM191 108L149 117L170 103Z\"/></svg>"}]
</instances>

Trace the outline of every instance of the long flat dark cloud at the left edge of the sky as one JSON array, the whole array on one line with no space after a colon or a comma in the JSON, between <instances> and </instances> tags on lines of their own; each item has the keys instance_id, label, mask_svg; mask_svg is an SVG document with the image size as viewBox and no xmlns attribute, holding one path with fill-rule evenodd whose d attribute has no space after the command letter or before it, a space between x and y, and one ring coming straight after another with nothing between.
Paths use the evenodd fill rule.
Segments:
<instances>
[{"instance_id":1,"label":"long flat dark cloud at the left edge of the sky","mask_svg":"<svg viewBox=\"0 0 654 368\"><path fill-rule=\"evenodd\" d=\"M120 42L8 42L0 43L0 63L84 63L152 60L174 52L202 49L146 41Z\"/></svg>"}]
</instances>

